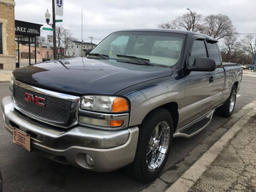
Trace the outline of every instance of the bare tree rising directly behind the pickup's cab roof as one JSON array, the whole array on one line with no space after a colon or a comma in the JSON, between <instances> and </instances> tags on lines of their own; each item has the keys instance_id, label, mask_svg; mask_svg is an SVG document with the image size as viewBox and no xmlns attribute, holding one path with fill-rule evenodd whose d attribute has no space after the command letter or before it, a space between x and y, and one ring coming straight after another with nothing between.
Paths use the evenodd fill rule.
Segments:
<instances>
[{"instance_id":1,"label":"bare tree rising directly behind the pickup's cab roof","mask_svg":"<svg viewBox=\"0 0 256 192\"><path fill-rule=\"evenodd\" d=\"M195 18L190 13L185 13L172 20L170 23L162 23L158 25L158 28L162 29L185 29L192 30L194 23L194 31L202 31L203 25L201 24L203 16L196 12L192 12Z\"/></svg>"}]
</instances>

